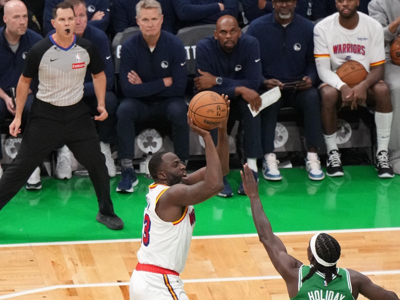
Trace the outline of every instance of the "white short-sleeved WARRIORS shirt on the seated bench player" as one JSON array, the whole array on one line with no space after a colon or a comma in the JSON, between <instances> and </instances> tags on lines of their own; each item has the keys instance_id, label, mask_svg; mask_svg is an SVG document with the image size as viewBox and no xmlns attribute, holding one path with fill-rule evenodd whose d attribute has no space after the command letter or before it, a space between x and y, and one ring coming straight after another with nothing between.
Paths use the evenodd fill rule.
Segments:
<instances>
[{"instance_id":1,"label":"white short-sleeved WARRIORS shirt on the seated bench player","mask_svg":"<svg viewBox=\"0 0 400 300\"><path fill-rule=\"evenodd\" d=\"M339 24L338 12L314 27L314 57L329 57L332 71L347 60L358 61L368 72L371 66L385 62L382 25L362 12L357 13L358 24L351 30Z\"/></svg>"}]
</instances>

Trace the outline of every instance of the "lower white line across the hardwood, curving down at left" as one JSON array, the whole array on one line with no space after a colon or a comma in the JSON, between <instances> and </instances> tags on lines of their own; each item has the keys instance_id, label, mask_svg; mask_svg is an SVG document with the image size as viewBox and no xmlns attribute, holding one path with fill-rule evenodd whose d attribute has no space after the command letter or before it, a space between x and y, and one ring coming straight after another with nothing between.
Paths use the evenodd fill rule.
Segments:
<instances>
[{"instance_id":1,"label":"lower white line across the hardwood, curving down at left","mask_svg":"<svg viewBox=\"0 0 400 300\"><path fill-rule=\"evenodd\" d=\"M389 274L400 274L400 270L389 270L389 271L366 271L362 272L364 275L389 275ZM198 278L198 279L185 279L184 283L202 283L202 282L227 282L227 281L246 281L246 280L272 280L281 279L279 275L272 276L249 276L249 277L225 277L225 278ZM103 283L85 283L85 284L60 284L51 285L46 287L28 289L24 291L18 291L0 296L1 299L9 299L22 295L28 295L38 292L46 292L58 288L80 288L80 287L105 287L105 286L127 286L129 282L103 282Z\"/></svg>"}]
</instances>

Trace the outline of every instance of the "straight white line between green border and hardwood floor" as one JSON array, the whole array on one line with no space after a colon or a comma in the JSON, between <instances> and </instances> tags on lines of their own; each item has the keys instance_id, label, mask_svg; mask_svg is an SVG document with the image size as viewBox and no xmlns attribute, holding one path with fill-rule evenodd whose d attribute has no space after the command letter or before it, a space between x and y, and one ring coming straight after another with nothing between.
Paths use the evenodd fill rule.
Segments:
<instances>
[{"instance_id":1,"label":"straight white line between green border and hardwood floor","mask_svg":"<svg viewBox=\"0 0 400 300\"><path fill-rule=\"evenodd\" d=\"M361 228L361 229L330 229L330 230L310 230L310 231L289 231L275 232L276 235L300 235L300 234L315 234L317 232L325 233L350 233L350 232L375 232L375 231L400 231L400 227L388 228ZM256 237L257 233L247 234L221 234L221 235L199 235L193 236L192 239L211 239L211 238L237 238L237 237ZM115 243L115 242L137 242L140 238L125 238L125 239L98 239L98 240L73 240L73 241L54 241L54 242L31 242L31 243L14 243L0 244L0 248L4 247L28 247L28 246L48 246L48 245L73 245L73 244L92 244L92 243ZM0 298L1 299L1 298Z\"/></svg>"}]
</instances>

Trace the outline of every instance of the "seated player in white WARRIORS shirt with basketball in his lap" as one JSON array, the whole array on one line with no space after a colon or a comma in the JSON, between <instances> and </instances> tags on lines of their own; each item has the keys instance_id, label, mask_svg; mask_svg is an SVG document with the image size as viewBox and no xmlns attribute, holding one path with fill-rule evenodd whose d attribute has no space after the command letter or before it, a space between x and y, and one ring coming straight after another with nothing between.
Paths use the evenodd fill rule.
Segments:
<instances>
[{"instance_id":1,"label":"seated player in white WARRIORS shirt with basketball in his lap","mask_svg":"<svg viewBox=\"0 0 400 300\"><path fill-rule=\"evenodd\" d=\"M321 114L327 149L326 174L342 176L343 168L336 144L337 110L358 105L374 108L377 136L376 168L378 177L393 177L387 148L390 136L392 106L384 74L384 44L382 26L368 15L357 12L359 0L336 0L338 12L318 22L314 27L314 57L322 98ZM345 61L361 63L368 74L350 87L335 73Z\"/></svg>"}]
</instances>

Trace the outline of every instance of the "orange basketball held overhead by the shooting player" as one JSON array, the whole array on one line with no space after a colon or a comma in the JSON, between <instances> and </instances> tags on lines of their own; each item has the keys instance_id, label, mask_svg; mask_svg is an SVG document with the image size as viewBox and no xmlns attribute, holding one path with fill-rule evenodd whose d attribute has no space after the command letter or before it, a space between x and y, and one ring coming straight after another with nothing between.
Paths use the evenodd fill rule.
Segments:
<instances>
[{"instance_id":1,"label":"orange basketball held overhead by the shooting player","mask_svg":"<svg viewBox=\"0 0 400 300\"><path fill-rule=\"evenodd\" d=\"M189 117L194 125L202 129L216 128L225 119L226 113L225 100L214 91L200 91L189 103Z\"/></svg>"}]
</instances>

